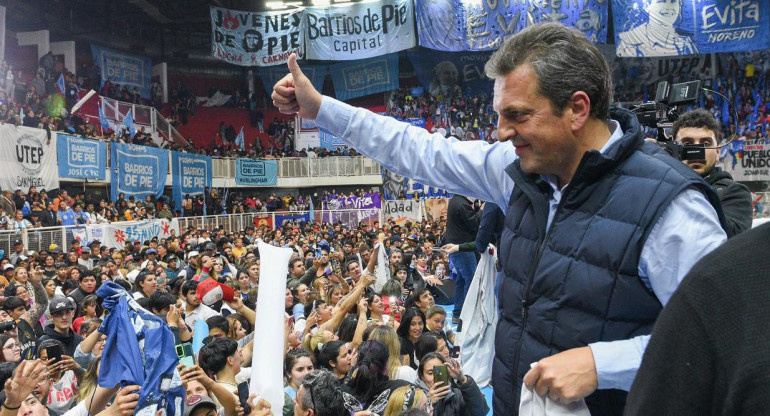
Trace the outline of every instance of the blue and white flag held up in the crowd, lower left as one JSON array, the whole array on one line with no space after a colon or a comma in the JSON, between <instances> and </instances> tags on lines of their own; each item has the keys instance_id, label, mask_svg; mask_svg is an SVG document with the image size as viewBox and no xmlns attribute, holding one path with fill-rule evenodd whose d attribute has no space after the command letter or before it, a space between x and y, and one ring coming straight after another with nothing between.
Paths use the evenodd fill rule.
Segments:
<instances>
[{"instance_id":1,"label":"blue and white flag held up in the crowd, lower left","mask_svg":"<svg viewBox=\"0 0 770 416\"><path fill-rule=\"evenodd\" d=\"M107 335L99 386L141 386L134 414L155 414L158 409L166 415L182 414L185 392L176 370L179 358L174 334L168 325L139 306L117 283L105 282L96 294L110 311L99 327Z\"/></svg>"}]
</instances>

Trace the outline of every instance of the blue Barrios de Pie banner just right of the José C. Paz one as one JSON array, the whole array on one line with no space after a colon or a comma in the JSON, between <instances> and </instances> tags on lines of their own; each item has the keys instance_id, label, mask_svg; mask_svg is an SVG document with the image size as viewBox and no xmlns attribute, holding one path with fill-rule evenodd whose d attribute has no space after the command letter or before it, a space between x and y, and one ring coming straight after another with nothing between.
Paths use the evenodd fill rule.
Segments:
<instances>
[{"instance_id":1,"label":"blue Barrios de Pie banner just right of the Jos\u00e9 C. Paz one","mask_svg":"<svg viewBox=\"0 0 770 416\"><path fill-rule=\"evenodd\" d=\"M168 174L168 150L134 144L112 143L111 196L131 195L144 200L147 195L163 195Z\"/></svg>"}]
</instances>

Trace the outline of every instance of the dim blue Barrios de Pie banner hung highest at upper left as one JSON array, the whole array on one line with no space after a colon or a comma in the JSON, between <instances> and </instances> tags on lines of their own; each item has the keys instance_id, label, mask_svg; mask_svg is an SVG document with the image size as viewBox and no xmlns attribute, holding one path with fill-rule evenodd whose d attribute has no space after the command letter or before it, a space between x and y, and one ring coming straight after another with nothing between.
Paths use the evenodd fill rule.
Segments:
<instances>
[{"instance_id":1,"label":"dim blue Barrios de Pie banner hung highest at upper left","mask_svg":"<svg viewBox=\"0 0 770 416\"><path fill-rule=\"evenodd\" d=\"M94 57L94 65L101 68L102 85L109 79L113 84L128 87L129 92L136 87L142 97L150 98L150 82L152 82L150 58L104 48L93 43L91 54Z\"/></svg>"}]
</instances>

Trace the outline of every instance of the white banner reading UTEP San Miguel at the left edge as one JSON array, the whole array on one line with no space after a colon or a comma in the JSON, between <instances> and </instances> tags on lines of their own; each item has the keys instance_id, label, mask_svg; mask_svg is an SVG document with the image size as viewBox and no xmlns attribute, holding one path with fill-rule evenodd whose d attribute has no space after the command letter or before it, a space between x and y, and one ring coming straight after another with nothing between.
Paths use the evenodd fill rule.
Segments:
<instances>
[{"instance_id":1,"label":"white banner reading UTEP San Miguel at the left edge","mask_svg":"<svg viewBox=\"0 0 770 416\"><path fill-rule=\"evenodd\" d=\"M43 129L0 125L0 189L27 191L30 186L40 189L59 187L56 168L56 134L51 141Z\"/></svg>"}]
</instances>

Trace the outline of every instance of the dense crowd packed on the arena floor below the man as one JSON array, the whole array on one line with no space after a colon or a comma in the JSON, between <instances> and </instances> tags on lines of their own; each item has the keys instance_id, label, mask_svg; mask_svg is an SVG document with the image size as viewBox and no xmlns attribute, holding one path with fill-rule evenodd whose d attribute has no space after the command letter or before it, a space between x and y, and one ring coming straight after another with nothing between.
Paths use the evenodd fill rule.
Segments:
<instances>
[{"instance_id":1,"label":"dense crowd packed on the arena floor below the man","mask_svg":"<svg viewBox=\"0 0 770 416\"><path fill-rule=\"evenodd\" d=\"M451 276L448 251L435 249L442 227L190 227L118 248L74 240L67 251L52 246L32 257L19 241L0 262L3 414L133 413L138 386L97 387L100 373L124 359L109 352L113 335L104 325L117 318L103 307L100 287L116 291L145 322L162 325L177 345L207 331L200 350L178 367L185 415L244 414L238 387L259 359L259 282L274 277L260 276L261 262L270 261L260 256L262 241L293 252L283 302L284 406L270 409L251 397L253 414L486 415L483 394L451 353L447 312L431 295ZM375 290L383 273L386 283ZM214 300L210 291L223 295Z\"/></svg>"}]
</instances>

